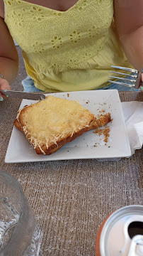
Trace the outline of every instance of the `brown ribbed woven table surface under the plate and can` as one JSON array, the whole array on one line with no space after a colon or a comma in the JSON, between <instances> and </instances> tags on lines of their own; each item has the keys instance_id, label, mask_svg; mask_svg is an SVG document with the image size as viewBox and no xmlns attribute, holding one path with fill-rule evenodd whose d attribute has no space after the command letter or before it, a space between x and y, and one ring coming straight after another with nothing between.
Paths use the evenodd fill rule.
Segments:
<instances>
[{"instance_id":1,"label":"brown ribbed woven table surface under the plate and can","mask_svg":"<svg viewBox=\"0 0 143 256\"><path fill-rule=\"evenodd\" d=\"M143 101L142 92L119 92ZM0 102L0 169L18 180L43 232L40 256L93 256L98 228L114 210L143 205L143 148L120 161L96 159L6 164L21 100Z\"/></svg>"}]
</instances>

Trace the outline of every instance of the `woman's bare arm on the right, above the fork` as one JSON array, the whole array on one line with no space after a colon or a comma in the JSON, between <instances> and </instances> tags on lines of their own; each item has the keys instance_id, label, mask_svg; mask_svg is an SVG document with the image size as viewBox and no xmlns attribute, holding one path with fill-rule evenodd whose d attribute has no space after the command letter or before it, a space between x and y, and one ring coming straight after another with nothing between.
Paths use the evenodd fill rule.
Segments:
<instances>
[{"instance_id":1,"label":"woman's bare arm on the right, above the fork","mask_svg":"<svg viewBox=\"0 0 143 256\"><path fill-rule=\"evenodd\" d=\"M143 1L114 0L115 26L128 60L143 68Z\"/></svg>"}]
</instances>

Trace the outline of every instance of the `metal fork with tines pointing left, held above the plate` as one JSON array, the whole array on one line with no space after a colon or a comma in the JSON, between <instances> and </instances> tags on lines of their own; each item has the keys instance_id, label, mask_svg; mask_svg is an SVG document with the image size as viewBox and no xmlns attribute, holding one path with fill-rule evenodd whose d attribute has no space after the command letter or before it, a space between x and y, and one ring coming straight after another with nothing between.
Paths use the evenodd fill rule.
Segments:
<instances>
[{"instance_id":1,"label":"metal fork with tines pointing left, held above the plate","mask_svg":"<svg viewBox=\"0 0 143 256\"><path fill-rule=\"evenodd\" d=\"M119 70L125 70L125 71L129 71L130 73L121 73L119 71L110 71L111 73L115 73L118 75L124 75L126 76L126 78L124 77L118 77L118 76L113 76L113 75L109 75L109 78L116 78L116 79L120 79L122 80L122 82L120 81L113 81L113 80L108 80L109 82L113 82L117 85L125 85L127 87L132 87L132 88L139 88L139 85L142 85L141 81L141 73L135 69L132 68L125 68L125 67L120 67L120 66L111 66L111 68L117 68ZM143 72L143 70L142 70ZM131 79L130 79L131 78Z\"/></svg>"}]
</instances>

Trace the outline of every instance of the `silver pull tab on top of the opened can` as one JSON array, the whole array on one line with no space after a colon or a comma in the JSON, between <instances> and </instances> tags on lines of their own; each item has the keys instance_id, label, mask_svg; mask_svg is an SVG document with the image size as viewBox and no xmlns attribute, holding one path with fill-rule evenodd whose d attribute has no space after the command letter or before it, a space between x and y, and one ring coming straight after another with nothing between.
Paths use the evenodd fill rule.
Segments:
<instances>
[{"instance_id":1,"label":"silver pull tab on top of the opened can","mask_svg":"<svg viewBox=\"0 0 143 256\"><path fill-rule=\"evenodd\" d=\"M143 235L135 235L130 244L127 256L142 256L143 255Z\"/></svg>"}]
</instances>

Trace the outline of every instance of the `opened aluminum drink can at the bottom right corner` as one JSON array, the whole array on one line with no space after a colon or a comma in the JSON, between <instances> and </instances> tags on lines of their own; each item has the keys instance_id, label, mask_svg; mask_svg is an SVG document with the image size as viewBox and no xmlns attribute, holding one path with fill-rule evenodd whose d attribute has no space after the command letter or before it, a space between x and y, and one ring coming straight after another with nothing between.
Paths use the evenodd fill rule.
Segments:
<instances>
[{"instance_id":1,"label":"opened aluminum drink can at the bottom right corner","mask_svg":"<svg viewBox=\"0 0 143 256\"><path fill-rule=\"evenodd\" d=\"M143 206L125 206L103 221L96 256L143 256Z\"/></svg>"}]
</instances>

